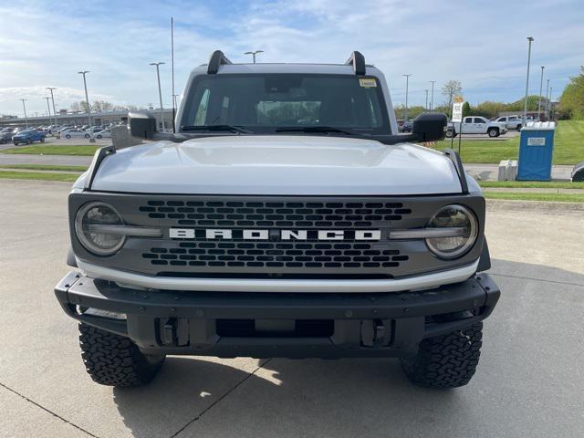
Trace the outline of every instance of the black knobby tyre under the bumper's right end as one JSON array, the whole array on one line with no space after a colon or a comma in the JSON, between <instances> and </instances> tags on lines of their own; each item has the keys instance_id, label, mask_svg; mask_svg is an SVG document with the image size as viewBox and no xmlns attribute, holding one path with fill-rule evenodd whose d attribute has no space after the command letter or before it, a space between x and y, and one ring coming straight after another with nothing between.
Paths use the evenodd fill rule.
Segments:
<instances>
[{"instance_id":1,"label":"black knobby tyre under the bumper's right end","mask_svg":"<svg viewBox=\"0 0 584 438\"><path fill-rule=\"evenodd\" d=\"M423 339L413 359L401 359L410 381L431 388L457 388L474 375L483 344L479 322L442 336Z\"/></svg>"}]
</instances>

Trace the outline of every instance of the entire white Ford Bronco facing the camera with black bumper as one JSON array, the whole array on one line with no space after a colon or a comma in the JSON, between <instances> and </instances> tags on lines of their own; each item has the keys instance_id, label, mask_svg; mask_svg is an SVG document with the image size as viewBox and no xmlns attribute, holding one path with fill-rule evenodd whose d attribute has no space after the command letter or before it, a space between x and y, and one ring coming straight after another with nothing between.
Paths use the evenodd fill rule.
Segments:
<instances>
[{"instance_id":1,"label":"entire white Ford Bronco facing the camera with black bumper","mask_svg":"<svg viewBox=\"0 0 584 438\"><path fill-rule=\"evenodd\" d=\"M415 144L443 139L443 114L398 134L359 52L216 51L175 123L130 114L154 142L100 149L68 197L76 270L55 293L94 381L151 381L166 355L392 357L419 385L470 381L500 292L479 186L454 151Z\"/></svg>"}]
</instances>

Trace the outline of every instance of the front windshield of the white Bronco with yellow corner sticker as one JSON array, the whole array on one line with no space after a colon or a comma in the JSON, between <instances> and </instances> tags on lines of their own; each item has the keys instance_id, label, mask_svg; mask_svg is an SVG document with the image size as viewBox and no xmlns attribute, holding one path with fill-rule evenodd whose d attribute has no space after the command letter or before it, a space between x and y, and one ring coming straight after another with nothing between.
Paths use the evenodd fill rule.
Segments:
<instances>
[{"instance_id":1,"label":"front windshield of the white Bronco with yellow corner sticker","mask_svg":"<svg viewBox=\"0 0 584 438\"><path fill-rule=\"evenodd\" d=\"M182 129L227 125L257 133L307 128L391 134L376 78L308 74L195 78L183 110Z\"/></svg>"}]
</instances>

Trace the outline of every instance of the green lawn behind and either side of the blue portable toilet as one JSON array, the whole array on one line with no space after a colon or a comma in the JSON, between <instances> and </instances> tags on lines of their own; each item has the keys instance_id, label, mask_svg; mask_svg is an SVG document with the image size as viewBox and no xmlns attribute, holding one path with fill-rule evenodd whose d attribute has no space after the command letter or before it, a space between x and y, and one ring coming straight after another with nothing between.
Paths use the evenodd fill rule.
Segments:
<instances>
[{"instance_id":1,"label":"green lawn behind and either side of the blue portable toilet","mask_svg":"<svg viewBox=\"0 0 584 438\"><path fill-rule=\"evenodd\" d=\"M443 151L451 147L451 140L438 141L436 149ZM454 139L458 151L458 138ZM516 160L519 137L506 141L463 141L463 162L499 163L501 160ZM584 161L584 120L561 120L558 122L554 147L554 164L576 164Z\"/></svg>"}]
</instances>

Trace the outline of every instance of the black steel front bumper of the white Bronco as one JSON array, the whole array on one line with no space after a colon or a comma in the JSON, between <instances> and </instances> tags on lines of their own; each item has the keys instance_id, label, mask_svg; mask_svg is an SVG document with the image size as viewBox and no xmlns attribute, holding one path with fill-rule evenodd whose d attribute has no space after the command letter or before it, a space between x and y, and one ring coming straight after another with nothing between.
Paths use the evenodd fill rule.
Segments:
<instances>
[{"instance_id":1,"label":"black steel front bumper of the white Bronco","mask_svg":"<svg viewBox=\"0 0 584 438\"><path fill-rule=\"evenodd\" d=\"M249 294L140 291L71 272L55 294L72 318L145 352L341 358L411 354L423 338L485 319L500 291L486 274L420 292Z\"/></svg>"}]
</instances>

